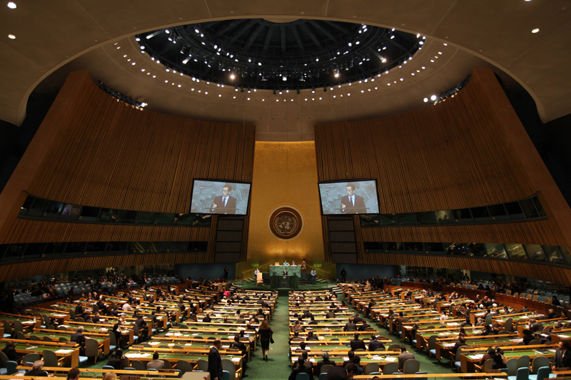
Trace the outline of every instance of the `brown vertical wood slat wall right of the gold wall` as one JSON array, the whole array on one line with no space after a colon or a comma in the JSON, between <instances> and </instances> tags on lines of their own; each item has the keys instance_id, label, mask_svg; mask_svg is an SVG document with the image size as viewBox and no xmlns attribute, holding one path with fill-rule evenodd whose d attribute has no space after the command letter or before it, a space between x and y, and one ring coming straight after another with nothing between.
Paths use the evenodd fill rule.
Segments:
<instances>
[{"instance_id":1,"label":"brown vertical wood slat wall right of the gold wall","mask_svg":"<svg viewBox=\"0 0 571 380\"><path fill-rule=\"evenodd\" d=\"M479 80L473 78L454 98L410 113L316 125L318 180L376 179L381 214L495 205L540 191L515 158L514 148L506 140L501 120L482 93ZM322 223L325 232L327 217L323 217ZM360 263L415 265L410 263L420 260L422 266L428 267L452 267L458 259L448 257L443 261L443 257L435 256L429 262L429 255L365 255L363 241L566 245L551 218L486 225L381 228L361 228L355 218L355 236ZM399 262L400 257L410 260ZM510 263L495 264L496 272L510 273ZM527 274L535 273L535 264L519 265L527 268ZM480 265L475 270L489 272L490 267ZM549 270L544 272L548 274Z\"/></svg>"}]
</instances>

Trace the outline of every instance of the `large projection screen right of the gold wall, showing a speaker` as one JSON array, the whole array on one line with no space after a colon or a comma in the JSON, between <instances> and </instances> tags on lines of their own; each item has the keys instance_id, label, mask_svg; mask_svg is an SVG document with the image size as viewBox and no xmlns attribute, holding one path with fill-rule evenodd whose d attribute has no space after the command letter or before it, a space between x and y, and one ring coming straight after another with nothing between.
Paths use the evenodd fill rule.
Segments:
<instances>
[{"instance_id":1,"label":"large projection screen right of the gold wall, showing a speaker","mask_svg":"<svg viewBox=\"0 0 571 380\"><path fill-rule=\"evenodd\" d=\"M319 184L323 215L378 214L375 180L354 180Z\"/></svg>"}]
</instances>

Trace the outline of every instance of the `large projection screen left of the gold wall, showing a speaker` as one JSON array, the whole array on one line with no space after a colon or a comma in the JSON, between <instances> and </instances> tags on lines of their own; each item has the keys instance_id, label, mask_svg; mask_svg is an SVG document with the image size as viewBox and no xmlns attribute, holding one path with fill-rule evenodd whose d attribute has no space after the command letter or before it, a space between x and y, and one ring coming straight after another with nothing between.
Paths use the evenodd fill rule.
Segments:
<instances>
[{"instance_id":1,"label":"large projection screen left of the gold wall, showing a speaker","mask_svg":"<svg viewBox=\"0 0 571 380\"><path fill-rule=\"evenodd\" d=\"M246 215L249 183L194 180L190 213Z\"/></svg>"}]
</instances>

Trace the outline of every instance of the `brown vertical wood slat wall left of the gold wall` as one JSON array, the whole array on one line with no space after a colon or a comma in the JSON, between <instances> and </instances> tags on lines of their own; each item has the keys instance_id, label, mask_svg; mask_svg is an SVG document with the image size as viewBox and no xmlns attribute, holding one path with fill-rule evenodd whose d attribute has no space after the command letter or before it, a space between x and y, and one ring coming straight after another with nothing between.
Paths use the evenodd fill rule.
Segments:
<instances>
[{"instance_id":1,"label":"brown vertical wood slat wall left of the gold wall","mask_svg":"<svg viewBox=\"0 0 571 380\"><path fill-rule=\"evenodd\" d=\"M211 227L97 225L17 218L26 192L78 205L186 213L191 206L193 179L251 183L254 125L138 111L88 82L31 185L21 189L19 203L9 210L9 222L0 231L0 242L208 241L205 255L168 254L165 260L155 262L167 262L169 257L213 262L216 215ZM125 257L126 265L134 265L128 257L135 256ZM81 269L81 262L69 260Z\"/></svg>"}]
</instances>

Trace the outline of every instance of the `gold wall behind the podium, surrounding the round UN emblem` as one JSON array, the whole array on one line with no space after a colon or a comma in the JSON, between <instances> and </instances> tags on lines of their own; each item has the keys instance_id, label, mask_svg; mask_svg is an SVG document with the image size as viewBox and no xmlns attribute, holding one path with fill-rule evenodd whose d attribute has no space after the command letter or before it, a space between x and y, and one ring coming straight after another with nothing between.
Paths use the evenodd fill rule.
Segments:
<instances>
[{"instance_id":1,"label":"gold wall behind the podium, surrounding the round UN emblem","mask_svg":"<svg viewBox=\"0 0 571 380\"><path fill-rule=\"evenodd\" d=\"M256 141L248 232L248 257L237 273L253 263L301 262L323 264L323 235L315 163L315 143L268 143ZM281 205L298 209L303 231L293 240L279 240L268 228L268 217ZM323 265L328 270L333 265ZM309 272L309 270L308 270ZM249 277L249 276L247 276Z\"/></svg>"}]
</instances>

